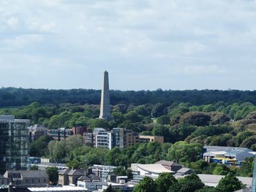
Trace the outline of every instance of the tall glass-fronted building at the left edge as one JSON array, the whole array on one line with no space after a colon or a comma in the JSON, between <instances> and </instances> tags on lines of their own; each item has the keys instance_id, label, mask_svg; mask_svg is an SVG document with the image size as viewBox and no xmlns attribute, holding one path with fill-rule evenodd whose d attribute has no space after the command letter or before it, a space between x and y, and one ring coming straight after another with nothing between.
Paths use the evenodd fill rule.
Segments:
<instances>
[{"instance_id":1,"label":"tall glass-fronted building at the left edge","mask_svg":"<svg viewBox=\"0 0 256 192\"><path fill-rule=\"evenodd\" d=\"M26 169L29 156L29 120L0 115L0 173Z\"/></svg>"}]
</instances>

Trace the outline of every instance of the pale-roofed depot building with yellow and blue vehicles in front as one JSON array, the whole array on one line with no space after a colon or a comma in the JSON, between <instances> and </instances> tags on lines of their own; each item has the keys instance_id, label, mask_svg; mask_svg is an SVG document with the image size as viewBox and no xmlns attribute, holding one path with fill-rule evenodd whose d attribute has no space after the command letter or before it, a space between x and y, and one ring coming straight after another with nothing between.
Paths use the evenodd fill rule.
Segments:
<instances>
[{"instance_id":1,"label":"pale-roofed depot building with yellow and blue vehicles in front","mask_svg":"<svg viewBox=\"0 0 256 192\"><path fill-rule=\"evenodd\" d=\"M255 156L255 152L245 147L204 146L203 159L208 163L241 165L245 158Z\"/></svg>"}]
</instances>

